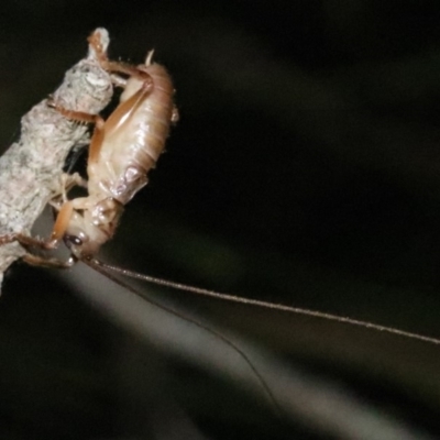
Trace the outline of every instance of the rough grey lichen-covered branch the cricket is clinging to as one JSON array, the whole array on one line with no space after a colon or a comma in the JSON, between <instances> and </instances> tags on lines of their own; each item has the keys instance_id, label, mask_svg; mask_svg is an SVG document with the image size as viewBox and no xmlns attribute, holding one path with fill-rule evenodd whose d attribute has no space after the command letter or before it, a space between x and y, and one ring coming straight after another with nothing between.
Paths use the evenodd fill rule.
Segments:
<instances>
[{"instance_id":1,"label":"rough grey lichen-covered branch the cricket is clinging to","mask_svg":"<svg viewBox=\"0 0 440 440\"><path fill-rule=\"evenodd\" d=\"M95 32L107 51L107 30ZM87 57L66 73L53 98L66 109L97 114L112 94L111 77L89 46ZM22 118L20 140L0 158L0 235L30 233L44 207L59 194L67 154L88 141L88 128L64 118L46 99ZM4 271L24 253L18 242L0 246L0 286Z\"/></svg>"}]
</instances>

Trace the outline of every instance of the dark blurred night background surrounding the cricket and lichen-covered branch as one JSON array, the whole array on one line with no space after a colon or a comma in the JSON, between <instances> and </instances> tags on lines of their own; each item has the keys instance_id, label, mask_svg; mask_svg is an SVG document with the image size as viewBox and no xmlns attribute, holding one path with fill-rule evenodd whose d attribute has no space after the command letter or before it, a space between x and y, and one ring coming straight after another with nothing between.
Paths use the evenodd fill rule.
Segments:
<instances>
[{"instance_id":1,"label":"dark blurred night background surrounding the cricket and lichen-covered branch","mask_svg":"<svg viewBox=\"0 0 440 440\"><path fill-rule=\"evenodd\" d=\"M113 59L155 48L174 78L180 121L101 260L440 338L439 2L22 0L1 12L3 150L97 26ZM261 389L132 324L141 301L75 271L15 264L4 282L2 439L440 437L439 346L154 288L263 353L278 418ZM105 306L108 293L127 310ZM292 405L279 365L304 393Z\"/></svg>"}]
</instances>

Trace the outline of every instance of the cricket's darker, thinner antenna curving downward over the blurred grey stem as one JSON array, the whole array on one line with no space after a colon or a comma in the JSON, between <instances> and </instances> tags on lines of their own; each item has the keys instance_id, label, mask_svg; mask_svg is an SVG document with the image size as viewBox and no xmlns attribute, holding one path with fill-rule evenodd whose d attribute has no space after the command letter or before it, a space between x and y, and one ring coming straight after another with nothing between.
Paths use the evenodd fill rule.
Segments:
<instances>
[{"instance_id":1,"label":"cricket's darker, thinner antenna curving downward over the blurred grey stem","mask_svg":"<svg viewBox=\"0 0 440 440\"><path fill-rule=\"evenodd\" d=\"M267 395L271 404L275 408L276 415L280 418L282 416L282 409L276 400L274 394L272 393L270 386L267 385L266 381L263 378L262 374L258 372L258 370L253 365L251 359L248 356L248 354L240 349L234 342L232 342L230 339L221 334L219 331L213 330L209 328L208 326L205 326L204 323L197 321L194 318L190 318L184 314L180 314L179 311L176 311L172 309L170 307L164 306L161 302L157 302L156 300L152 299L150 296L147 296L145 293L135 289L133 286L130 286L129 284L124 283L123 280L117 278L114 275L110 273L110 271L117 272L117 273L123 273L124 270L121 270L118 267L118 270L113 270L113 266L107 265L106 263L100 262L99 260L96 258L84 258L81 260L82 263L87 264L89 267L92 270L97 271L101 275L108 277L111 279L113 283L118 284L119 286L125 288L127 290L131 292L132 294L140 296L141 298L145 299L147 302L151 305L158 307L162 310L165 310L166 312L174 315L175 317L179 319L184 319L185 321L188 321L193 323L194 326L198 327L201 330L205 330L206 332L212 334L213 337L220 339L222 342L224 342L228 346L230 346L232 350L234 350L241 358L242 360L248 364L248 366L251 369L252 373L255 375L256 380L258 381L260 385L264 389L265 394ZM135 274L133 272L133 274ZM141 274L138 274L141 275ZM130 276L130 275L128 275ZM132 276L134 278L134 276ZM165 282L165 279L164 279ZM154 283L154 282L152 282ZM154 284L160 284L160 283L154 283ZM175 287L177 288L177 287Z\"/></svg>"}]
</instances>

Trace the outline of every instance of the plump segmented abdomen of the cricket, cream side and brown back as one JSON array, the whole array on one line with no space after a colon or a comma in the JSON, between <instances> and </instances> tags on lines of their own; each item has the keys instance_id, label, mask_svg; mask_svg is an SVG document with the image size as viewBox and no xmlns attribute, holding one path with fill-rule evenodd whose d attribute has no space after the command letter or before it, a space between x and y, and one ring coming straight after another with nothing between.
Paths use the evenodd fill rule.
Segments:
<instances>
[{"instance_id":1,"label":"plump segmented abdomen of the cricket, cream side and brown back","mask_svg":"<svg viewBox=\"0 0 440 440\"><path fill-rule=\"evenodd\" d=\"M89 194L101 193L122 205L147 183L147 173L164 151L173 117L174 87L165 67L152 64L143 70L151 76L152 86L127 120L105 133L98 163L89 173ZM132 97L142 86L139 78L129 78L121 99Z\"/></svg>"}]
</instances>

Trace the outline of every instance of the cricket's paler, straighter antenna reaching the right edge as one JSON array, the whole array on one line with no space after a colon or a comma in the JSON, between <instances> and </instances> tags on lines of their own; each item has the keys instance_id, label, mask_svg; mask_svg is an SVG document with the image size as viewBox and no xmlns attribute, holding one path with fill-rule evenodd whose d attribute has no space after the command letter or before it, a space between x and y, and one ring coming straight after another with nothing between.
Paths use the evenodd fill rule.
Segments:
<instances>
[{"instance_id":1,"label":"cricket's paler, straighter antenna reaching the right edge","mask_svg":"<svg viewBox=\"0 0 440 440\"><path fill-rule=\"evenodd\" d=\"M200 288L200 287L189 286L189 285L182 284L182 283L174 283L174 282L169 282L167 279L156 278L154 276L140 274L140 273L136 273L136 272L133 272L133 271L130 271L130 270L127 270L127 268L121 268L121 267L118 267L118 266L113 266L111 264L102 263L99 260L95 260L95 258L91 258L91 260L87 261L86 264L90 265L91 267L96 268L98 272L101 272L101 273L105 272L106 274L108 274L109 271L112 271L112 272L116 272L118 274L121 274L121 275L124 275L124 276L129 276L131 278L142 279L142 280L147 282L147 283L156 284L156 285L164 286L164 287L169 287L169 288L173 288L173 289L176 289L176 290L185 290L185 292L188 292L188 293L191 293L191 294L201 295L201 296L208 296L208 297L211 297L211 298L221 299L221 300L230 301L230 302L239 302L239 304L244 304L244 305L248 305L248 306L255 306L255 307L262 307L262 308L272 309L272 310L287 311L289 314L304 315L304 316L308 316L308 317L312 317L312 318L327 319L329 321L337 321L337 322L348 323L348 324L352 324L352 326L356 326L356 327L363 327L363 328L366 328L366 329L382 331L382 332L385 332L385 333L392 333L392 334L396 334L396 336L399 336L399 337L415 339L417 341L422 341L422 342L428 342L428 343L432 343L432 344L436 344L436 345L440 345L440 339L438 339L438 338L426 337L424 334L413 333L410 331L405 331L405 330L399 330L399 329L396 329L394 327L381 326L381 324L374 323L374 322L362 321L362 320L359 320L359 319L353 319L353 318L349 318L349 317L342 317L342 316L333 315L333 314L326 314L323 311L305 309L305 308L301 308L301 307L290 307L290 306L286 306L284 304L275 304L275 302L262 301L262 300L258 300L258 299L242 298L242 297L239 297L239 296L235 296L235 295L220 294L220 293L215 292L215 290L209 290L209 289L205 289L205 288ZM178 314L176 314L174 311L173 311L173 314L174 315L178 315ZM187 319L187 318L185 318L185 319ZM196 322L194 322L194 323L196 323ZM209 330L209 329L205 328L204 326L201 326L199 323L196 323L196 324L199 326L199 327L202 327L204 329L206 329L206 330L208 330L210 332L213 332L212 330ZM224 340L224 337L221 337L220 334L219 334L219 337L224 342L227 342L228 344L233 345L233 344L231 344L231 341ZM245 358L246 362L249 363L249 360L246 359L244 353L242 353L240 350L238 350L238 351L241 353L241 355L243 358ZM252 370L254 370L254 373L260 377L260 374L257 374L255 372L255 369L252 367Z\"/></svg>"}]
</instances>

